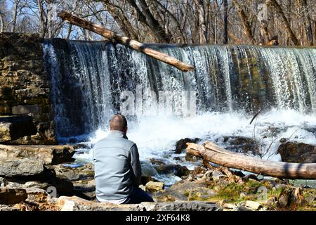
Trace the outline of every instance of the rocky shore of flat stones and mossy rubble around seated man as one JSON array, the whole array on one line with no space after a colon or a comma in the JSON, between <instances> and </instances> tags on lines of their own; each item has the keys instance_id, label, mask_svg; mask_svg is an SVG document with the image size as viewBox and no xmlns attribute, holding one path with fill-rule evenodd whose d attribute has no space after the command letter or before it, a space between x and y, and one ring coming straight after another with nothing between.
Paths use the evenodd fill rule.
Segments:
<instances>
[{"instance_id":1,"label":"rocky shore of flat stones and mossy rubble around seated man","mask_svg":"<svg viewBox=\"0 0 316 225\"><path fill-rule=\"evenodd\" d=\"M176 148L177 153L183 152L181 140L176 143ZM311 149L315 147L287 143L285 149L298 151L298 155L301 156L303 148L309 150L310 155L306 159L312 161ZM280 153L282 149L284 145L280 146ZM74 161L74 152L74 147L69 145L0 145L0 210L316 210L316 190L310 186L299 186L294 181L286 179L244 174L205 161L201 163L202 166L191 171L187 167L168 165L157 159L150 160L157 172L174 174L181 180L170 188L165 188L163 182L150 176L143 176L143 185L140 187L152 195L155 203L97 203L93 165L62 165ZM180 160L192 158L186 155Z\"/></svg>"}]
</instances>

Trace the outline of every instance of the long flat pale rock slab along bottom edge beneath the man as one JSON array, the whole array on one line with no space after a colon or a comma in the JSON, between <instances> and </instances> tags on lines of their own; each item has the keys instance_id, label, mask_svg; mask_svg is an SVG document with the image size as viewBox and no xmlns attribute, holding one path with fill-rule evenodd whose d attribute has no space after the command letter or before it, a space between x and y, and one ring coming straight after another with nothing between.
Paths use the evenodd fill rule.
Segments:
<instances>
[{"instance_id":1,"label":"long flat pale rock slab along bottom edge beneath the man","mask_svg":"<svg viewBox=\"0 0 316 225\"><path fill-rule=\"evenodd\" d=\"M214 203L201 201L179 203L140 203L117 205L112 203L96 203L78 197L58 198L60 211L218 211L220 207Z\"/></svg>"}]
</instances>

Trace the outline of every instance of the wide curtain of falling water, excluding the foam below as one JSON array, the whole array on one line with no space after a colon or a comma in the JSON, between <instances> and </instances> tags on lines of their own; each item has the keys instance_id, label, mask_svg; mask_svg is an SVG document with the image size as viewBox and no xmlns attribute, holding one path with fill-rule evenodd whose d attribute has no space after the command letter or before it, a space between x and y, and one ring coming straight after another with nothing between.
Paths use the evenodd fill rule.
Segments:
<instances>
[{"instance_id":1,"label":"wide curtain of falling water, excluding the foam below","mask_svg":"<svg viewBox=\"0 0 316 225\"><path fill-rule=\"evenodd\" d=\"M197 114L252 115L271 108L316 113L315 48L150 46L195 70L184 73L105 41L45 40L57 135L78 136L105 126L108 117L119 112L121 92L139 88L153 91L151 98L169 91L174 110L185 105L180 91L196 93Z\"/></svg>"}]
</instances>

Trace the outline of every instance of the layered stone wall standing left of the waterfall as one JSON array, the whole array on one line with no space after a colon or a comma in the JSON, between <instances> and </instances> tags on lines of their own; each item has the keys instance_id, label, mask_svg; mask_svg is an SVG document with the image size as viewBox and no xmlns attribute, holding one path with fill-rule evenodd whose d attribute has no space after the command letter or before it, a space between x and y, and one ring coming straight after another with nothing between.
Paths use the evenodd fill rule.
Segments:
<instances>
[{"instance_id":1,"label":"layered stone wall standing left of the waterfall","mask_svg":"<svg viewBox=\"0 0 316 225\"><path fill-rule=\"evenodd\" d=\"M56 143L41 41L37 34L0 33L0 116L29 115L37 127L37 134L8 143Z\"/></svg>"}]
</instances>

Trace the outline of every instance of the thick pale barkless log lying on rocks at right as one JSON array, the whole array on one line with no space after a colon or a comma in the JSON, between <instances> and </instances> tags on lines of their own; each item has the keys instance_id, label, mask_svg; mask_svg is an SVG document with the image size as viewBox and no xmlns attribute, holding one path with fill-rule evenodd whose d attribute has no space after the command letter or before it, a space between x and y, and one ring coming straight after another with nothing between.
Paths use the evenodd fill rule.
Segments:
<instances>
[{"instance_id":1,"label":"thick pale barkless log lying on rocks at right","mask_svg":"<svg viewBox=\"0 0 316 225\"><path fill-rule=\"evenodd\" d=\"M206 141L203 145L187 143L187 153L204 158L215 164L242 169L265 176L287 179L316 179L316 163L288 163L260 160L258 158L232 153L216 144Z\"/></svg>"}]
</instances>

